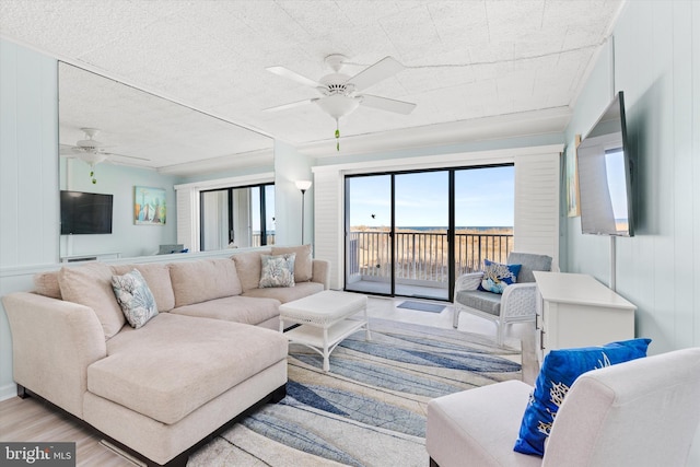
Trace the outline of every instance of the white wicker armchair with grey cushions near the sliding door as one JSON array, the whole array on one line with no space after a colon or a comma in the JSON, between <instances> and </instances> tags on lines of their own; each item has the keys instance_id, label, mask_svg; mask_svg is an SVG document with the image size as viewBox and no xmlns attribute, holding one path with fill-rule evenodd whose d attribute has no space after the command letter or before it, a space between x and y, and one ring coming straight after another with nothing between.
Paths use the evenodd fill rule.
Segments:
<instances>
[{"instance_id":1,"label":"white wicker armchair with grey cushions near the sliding door","mask_svg":"<svg viewBox=\"0 0 700 467\"><path fill-rule=\"evenodd\" d=\"M483 272L470 272L455 282L453 326L459 324L459 313L490 319L497 326L497 343L503 345L505 327L513 323L535 320L535 277L533 271L551 270L551 257L529 253L511 253L509 265L522 265L515 283L505 287L503 294L477 290Z\"/></svg>"}]
</instances>

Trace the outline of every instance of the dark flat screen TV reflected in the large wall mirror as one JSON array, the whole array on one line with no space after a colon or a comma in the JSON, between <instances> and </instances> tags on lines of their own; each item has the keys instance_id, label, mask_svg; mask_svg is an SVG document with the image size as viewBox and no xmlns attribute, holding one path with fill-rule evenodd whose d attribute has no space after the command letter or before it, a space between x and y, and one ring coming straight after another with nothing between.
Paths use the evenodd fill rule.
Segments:
<instances>
[{"instance_id":1,"label":"dark flat screen TV reflected in the large wall mirror","mask_svg":"<svg viewBox=\"0 0 700 467\"><path fill-rule=\"evenodd\" d=\"M61 190L61 235L110 234L113 195Z\"/></svg>"}]
</instances>

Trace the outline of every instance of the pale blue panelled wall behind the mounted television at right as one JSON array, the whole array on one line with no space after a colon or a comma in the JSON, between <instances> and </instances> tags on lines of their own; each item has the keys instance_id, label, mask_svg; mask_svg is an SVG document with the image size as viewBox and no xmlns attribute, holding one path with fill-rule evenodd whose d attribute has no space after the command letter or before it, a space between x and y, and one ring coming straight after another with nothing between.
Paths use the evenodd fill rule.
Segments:
<instances>
[{"instance_id":1,"label":"pale blue panelled wall behind the mounted television at right","mask_svg":"<svg viewBox=\"0 0 700 467\"><path fill-rule=\"evenodd\" d=\"M628 1L581 94L567 131L585 133L616 91L625 92L637 155L632 238L617 238L617 291L638 306L650 353L700 346L700 2ZM608 283L610 241L569 219L567 270ZM700 465L700 430L689 466Z\"/></svg>"}]
</instances>

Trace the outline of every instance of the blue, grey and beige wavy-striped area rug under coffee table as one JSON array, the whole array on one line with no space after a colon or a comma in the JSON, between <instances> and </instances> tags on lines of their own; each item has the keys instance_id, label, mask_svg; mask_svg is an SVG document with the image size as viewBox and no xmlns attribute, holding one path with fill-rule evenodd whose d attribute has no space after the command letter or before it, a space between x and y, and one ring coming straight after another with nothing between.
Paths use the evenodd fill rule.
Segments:
<instances>
[{"instance_id":1,"label":"blue, grey and beige wavy-striped area rug under coffee table","mask_svg":"<svg viewBox=\"0 0 700 467\"><path fill-rule=\"evenodd\" d=\"M434 397L522 378L518 340L371 319L330 355L290 346L288 395L190 456L189 467L420 466Z\"/></svg>"}]
</instances>

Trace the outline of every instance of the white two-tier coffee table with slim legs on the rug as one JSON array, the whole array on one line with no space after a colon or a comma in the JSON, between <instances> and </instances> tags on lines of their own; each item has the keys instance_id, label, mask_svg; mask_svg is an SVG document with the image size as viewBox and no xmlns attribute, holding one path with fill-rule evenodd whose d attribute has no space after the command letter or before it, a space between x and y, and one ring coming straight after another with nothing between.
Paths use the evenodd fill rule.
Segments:
<instances>
[{"instance_id":1,"label":"white two-tier coffee table with slim legs on the rug","mask_svg":"<svg viewBox=\"0 0 700 467\"><path fill-rule=\"evenodd\" d=\"M363 313L360 317L355 316ZM284 323L301 326L284 332ZM280 306L280 331L290 342L302 343L324 358L324 371L330 370L328 358L340 341L364 329L370 340L366 295L325 290Z\"/></svg>"}]
</instances>

